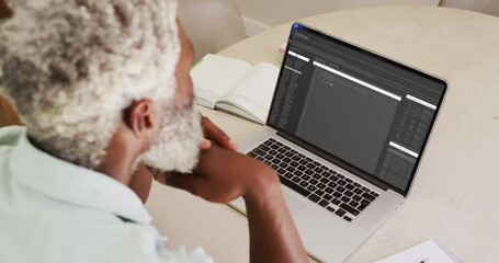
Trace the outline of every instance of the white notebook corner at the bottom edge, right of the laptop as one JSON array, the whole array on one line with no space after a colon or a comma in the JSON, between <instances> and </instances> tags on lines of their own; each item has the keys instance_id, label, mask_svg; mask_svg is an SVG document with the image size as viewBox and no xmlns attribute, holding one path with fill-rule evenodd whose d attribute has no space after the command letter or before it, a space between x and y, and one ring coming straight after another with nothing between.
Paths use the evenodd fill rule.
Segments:
<instances>
[{"instance_id":1,"label":"white notebook corner at the bottom edge, right of the laptop","mask_svg":"<svg viewBox=\"0 0 499 263\"><path fill-rule=\"evenodd\" d=\"M428 240L375 263L461 263L438 239Z\"/></svg>"}]
</instances>

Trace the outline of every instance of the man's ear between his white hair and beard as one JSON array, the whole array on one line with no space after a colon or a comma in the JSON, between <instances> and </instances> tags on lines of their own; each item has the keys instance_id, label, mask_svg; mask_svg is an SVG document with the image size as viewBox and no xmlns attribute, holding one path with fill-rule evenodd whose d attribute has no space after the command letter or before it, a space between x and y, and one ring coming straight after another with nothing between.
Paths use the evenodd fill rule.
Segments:
<instances>
[{"instance_id":1,"label":"man's ear between his white hair and beard","mask_svg":"<svg viewBox=\"0 0 499 263\"><path fill-rule=\"evenodd\" d=\"M134 102L125 111L124 121L135 137L150 139L158 128L158 112L151 100Z\"/></svg>"}]
</instances>

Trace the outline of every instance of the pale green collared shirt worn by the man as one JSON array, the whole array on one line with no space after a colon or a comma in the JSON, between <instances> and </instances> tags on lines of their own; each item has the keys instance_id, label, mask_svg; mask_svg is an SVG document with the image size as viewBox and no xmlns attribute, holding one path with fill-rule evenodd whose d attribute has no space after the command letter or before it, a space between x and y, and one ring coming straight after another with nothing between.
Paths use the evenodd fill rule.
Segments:
<instances>
[{"instance_id":1,"label":"pale green collared shirt worn by the man","mask_svg":"<svg viewBox=\"0 0 499 263\"><path fill-rule=\"evenodd\" d=\"M0 262L213 262L165 240L126 185L0 128Z\"/></svg>"}]
</instances>

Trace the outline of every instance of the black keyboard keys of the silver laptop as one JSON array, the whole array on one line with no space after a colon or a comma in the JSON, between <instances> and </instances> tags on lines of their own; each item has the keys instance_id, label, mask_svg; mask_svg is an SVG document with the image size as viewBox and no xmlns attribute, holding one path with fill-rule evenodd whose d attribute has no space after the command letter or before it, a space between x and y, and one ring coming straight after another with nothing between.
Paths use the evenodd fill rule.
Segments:
<instances>
[{"instance_id":1,"label":"black keyboard keys of the silver laptop","mask_svg":"<svg viewBox=\"0 0 499 263\"><path fill-rule=\"evenodd\" d=\"M274 138L259 145L248 156L272 167L282 184L347 221L354 220L378 196Z\"/></svg>"}]
</instances>

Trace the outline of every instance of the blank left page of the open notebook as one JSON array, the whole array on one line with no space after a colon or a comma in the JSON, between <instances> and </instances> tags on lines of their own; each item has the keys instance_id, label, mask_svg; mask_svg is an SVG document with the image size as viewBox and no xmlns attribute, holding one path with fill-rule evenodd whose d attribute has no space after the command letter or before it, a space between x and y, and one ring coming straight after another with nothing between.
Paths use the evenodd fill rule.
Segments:
<instances>
[{"instance_id":1,"label":"blank left page of the open notebook","mask_svg":"<svg viewBox=\"0 0 499 263\"><path fill-rule=\"evenodd\" d=\"M205 103L200 104L214 107L251 68L250 64L239 59L211 54L204 56L191 70L196 102L204 100Z\"/></svg>"}]
</instances>

